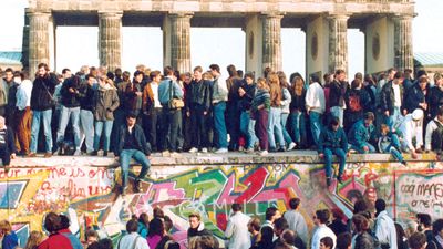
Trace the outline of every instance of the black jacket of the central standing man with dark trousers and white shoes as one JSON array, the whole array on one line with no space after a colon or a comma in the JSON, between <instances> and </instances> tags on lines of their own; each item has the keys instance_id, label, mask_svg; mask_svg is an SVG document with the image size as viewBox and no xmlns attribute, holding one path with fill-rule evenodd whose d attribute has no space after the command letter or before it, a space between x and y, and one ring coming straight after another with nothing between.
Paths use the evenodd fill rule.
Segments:
<instances>
[{"instance_id":1,"label":"black jacket of the central standing man with dark trousers and white shoes","mask_svg":"<svg viewBox=\"0 0 443 249\"><path fill-rule=\"evenodd\" d=\"M200 80L196 82L195 80L190 82L189 90L186 92L186 106L193 107L196 105L204 106L205 111L210 108L210 87L212 82L206 80Z\"/></svg>"}]
</instances>

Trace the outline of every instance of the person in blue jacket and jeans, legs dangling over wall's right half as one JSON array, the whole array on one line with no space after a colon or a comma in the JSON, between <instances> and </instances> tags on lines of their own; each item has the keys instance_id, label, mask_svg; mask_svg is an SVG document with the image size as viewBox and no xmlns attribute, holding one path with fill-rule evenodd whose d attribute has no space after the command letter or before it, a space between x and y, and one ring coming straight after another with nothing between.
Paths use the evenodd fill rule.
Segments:
<instances>
[{"instance_id":1,"label":"person in blue jacket and jeans, legs dangling over wall's right half","mask_svg":"<svg viewBox=\"0 0 443 249\"><path fill-rule=\"evenodd\" d=\"M339 158L340 166L337 180L341 184L346 158L349 156L349 153L348 139L343 128L340 127L338 117L333 116L328 127L321 131L318 153L319 157L324 159L326 184L328 187L331 186L332 183L332 156L336 155Z\"/></svg>"}]
</instances>

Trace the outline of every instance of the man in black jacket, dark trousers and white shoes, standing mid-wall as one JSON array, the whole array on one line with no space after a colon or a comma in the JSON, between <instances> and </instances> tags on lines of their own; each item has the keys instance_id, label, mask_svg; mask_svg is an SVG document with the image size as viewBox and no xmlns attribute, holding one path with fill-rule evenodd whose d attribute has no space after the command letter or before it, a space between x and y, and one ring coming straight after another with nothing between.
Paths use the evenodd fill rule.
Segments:
<instances>
[{"instance_id":1,"label":"man in black jacket, dark trousers and white shoes, standing mid-wall","mask_svg":"<svg viewBox=\"0 0 443 249\"><path fill-rule=\"evenodd\" d=\"M209 138L207 133L207 120L210 108L210 82L202 77L202 66L194 69L194 80L190 82L189 92L186 93L186 115L190 117L192 148L190 153L207 153Z\"/></svg>"}]
</instances>

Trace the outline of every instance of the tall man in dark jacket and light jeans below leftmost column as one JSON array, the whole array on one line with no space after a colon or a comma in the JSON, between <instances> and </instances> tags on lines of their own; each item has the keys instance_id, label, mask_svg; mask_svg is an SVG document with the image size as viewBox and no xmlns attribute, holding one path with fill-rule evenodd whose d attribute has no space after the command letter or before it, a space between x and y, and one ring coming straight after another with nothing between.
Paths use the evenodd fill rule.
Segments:
<instances>
[{"instance_id":1,"label":"tall man in dark jacket and light jeans below leftmost column","mask_svg":"<svg viewBox=\"0 0 443 249\"><path fill-rule=\"evenodd\" d=\"M31 153L28 154L29 157L35 156L40 124L42 120L47 145L47 153L44 154L44 157L52 156L51 118L52 107L54 104L53 95L56 84L58 79L55 74L50 73L48 64L40 63L31 93L32 126Z\"/></svg>"}]
</instances>

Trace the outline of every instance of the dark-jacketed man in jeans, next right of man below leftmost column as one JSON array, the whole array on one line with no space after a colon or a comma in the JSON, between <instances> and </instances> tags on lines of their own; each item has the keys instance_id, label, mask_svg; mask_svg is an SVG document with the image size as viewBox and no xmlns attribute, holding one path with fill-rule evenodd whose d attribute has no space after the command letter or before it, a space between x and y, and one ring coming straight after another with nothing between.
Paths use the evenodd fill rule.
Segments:
<instances>
[{"instance_id":1,"label":"dark-jacketed man in jeans, next right of man below leftmost column","mask_svg":"<svg viewBox=\"0 0 443 249\"><path fill-rule=\"evenodd\" d=\"M63 154L63 142L64 132L68 123L71 120L72 131L74 135L74 156L80 155L80 76L71 76L64 80L61 93L61 113L60 113L60 125L56 132L56 145L59 147L59 155Z\"/></svg>"}]
</instances>

